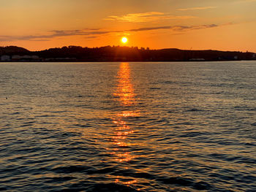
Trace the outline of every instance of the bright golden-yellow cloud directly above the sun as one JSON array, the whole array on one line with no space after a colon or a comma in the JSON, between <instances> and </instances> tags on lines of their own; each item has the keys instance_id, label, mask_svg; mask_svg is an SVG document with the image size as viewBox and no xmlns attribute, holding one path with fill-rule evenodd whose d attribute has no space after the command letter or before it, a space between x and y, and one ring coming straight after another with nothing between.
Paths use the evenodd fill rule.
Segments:
<instances>
[{"instance_id":1,"label":"bright golden-yellow cloud directly above the sun","mask_svg":"<svg viewBox=\"0 0 256 192\"><path fill-rule=\"evenodd\" d=\"M143 22L157 22L159 20L170 20L170 19L190 19L196 18L195 16L189 15L170 15L164 12L143 12L143 13L131 13L121 16L108 16L105 20L118 20L132 23L143 23Z\"/></svg>"}]
</instances>

